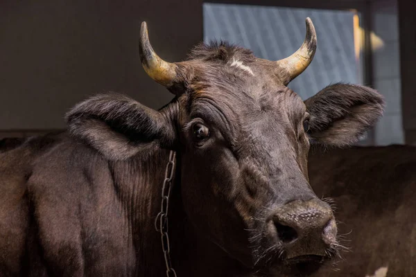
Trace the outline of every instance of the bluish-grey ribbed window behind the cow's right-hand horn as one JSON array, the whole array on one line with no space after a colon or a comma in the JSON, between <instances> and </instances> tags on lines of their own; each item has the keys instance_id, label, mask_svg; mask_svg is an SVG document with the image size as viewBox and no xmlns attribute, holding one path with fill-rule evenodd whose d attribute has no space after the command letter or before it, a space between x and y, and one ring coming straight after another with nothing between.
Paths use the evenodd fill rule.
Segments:
<instances>
[{"instance_id":1,"label":"bluish-grey ribbed window behind the cow's right-hand horn","mask_svg":"<svg viewBox=\"0 0 416 277\"><path fill-rule=\"evenodd\" d=\"M334 82L363 83L356 11L204 3L203 14L205 42L223 39L268 60L294 53L304 41L305 19L311 17L318 49L308 69L288 87L306 99Z\"/></svg>"}]
</instances>

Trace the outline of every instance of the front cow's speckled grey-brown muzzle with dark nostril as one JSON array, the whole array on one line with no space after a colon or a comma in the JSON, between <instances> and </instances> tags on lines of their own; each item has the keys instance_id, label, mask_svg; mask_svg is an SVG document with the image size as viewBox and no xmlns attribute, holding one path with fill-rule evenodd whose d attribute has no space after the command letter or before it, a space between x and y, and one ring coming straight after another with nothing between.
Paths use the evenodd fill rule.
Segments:
<instances>
[{"instance_id":1,"label":"front cow's speckled grey-brown muzzle with dark nostril","mask_svg":"<svg viewBox=\"0 0 416 277\"><path fill-rule=\"evenodd\" d=\"M319 261L336 242L336 222L331 207L320 199L295 200L277 208L269 230L284 249L284 261Z\"/></svg>"}]
</instances>

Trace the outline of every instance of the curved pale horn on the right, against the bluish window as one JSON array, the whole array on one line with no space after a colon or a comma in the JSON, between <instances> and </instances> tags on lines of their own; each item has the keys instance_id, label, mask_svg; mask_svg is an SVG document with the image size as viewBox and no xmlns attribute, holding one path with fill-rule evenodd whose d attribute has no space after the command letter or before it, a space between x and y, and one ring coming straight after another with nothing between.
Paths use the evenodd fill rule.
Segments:
<instances>
[{"instance_id":1,"label":"curved pale horn on the right, against the bluish window","mask_svg":"<svg viewBox=\"0 0 416 277\"><path fill-rule=\"evenodd\" d=\"M284 84L288 84L291 80L295 79L297 75L302 73L306 67L312 62L313 55L316 51L316 32L313 27L312 20L306 18L306 37L304 43L300 48L286 59L278 60L277 64L286 69L288 73L288 80L285 80Z\"/></svg>"}]
</instances>

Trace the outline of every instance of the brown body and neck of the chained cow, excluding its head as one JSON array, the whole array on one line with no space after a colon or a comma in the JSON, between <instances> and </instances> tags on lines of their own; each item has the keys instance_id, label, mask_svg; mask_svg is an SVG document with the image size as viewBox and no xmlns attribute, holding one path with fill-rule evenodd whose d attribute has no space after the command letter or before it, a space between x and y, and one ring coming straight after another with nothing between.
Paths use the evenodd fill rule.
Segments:
<instances>
[{"instance_id":1,"label":"brown body and neck of the chained cow, excluding its head","mask_svg":"<svg viewBox=\"0 0 416 277\"><path fill-rule=\"evenodd\" d=\"M165 276L154 221L168 154L111 162L66 133L1 153L0 275ZM173 195L169 230L178 274L249 274L198 238L180 194Z\"/></svg>"}]
</instances>

